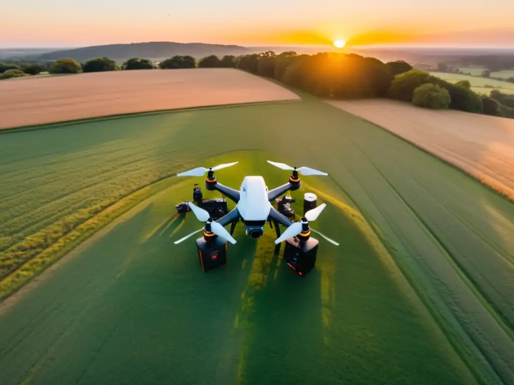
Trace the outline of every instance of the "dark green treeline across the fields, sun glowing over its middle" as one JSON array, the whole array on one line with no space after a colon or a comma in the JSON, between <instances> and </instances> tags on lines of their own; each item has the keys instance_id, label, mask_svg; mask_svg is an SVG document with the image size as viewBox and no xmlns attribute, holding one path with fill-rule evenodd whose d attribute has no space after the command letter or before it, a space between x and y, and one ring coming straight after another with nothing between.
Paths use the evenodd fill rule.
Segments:
<instances>
[{"instance_id":1,"label":"dark green treeline across the fields, sun glowing over its middle","mask_svg":"<svg viewBox=\"0 0 514 385\"><path fill-rule=\"evenodd\" d=\"M140 69L237 68L277 80L320 98L390 98L433 109L455 109L514 118L514 103L508 95L493 91L491 97L471 90L468 81L449 83L428 72L413 69L404 61L383 63L374 57L353 53L324 52L315 55L272 51L243 56L210 55L196 61L176 55L156 63L133 57L121 65L99 57L83 64L59 59L50 64L50 73L78 73ZM0 66L0 70L2 70ZM8 71L23 71L9 68Z\"/></svg>"}]
</instances>

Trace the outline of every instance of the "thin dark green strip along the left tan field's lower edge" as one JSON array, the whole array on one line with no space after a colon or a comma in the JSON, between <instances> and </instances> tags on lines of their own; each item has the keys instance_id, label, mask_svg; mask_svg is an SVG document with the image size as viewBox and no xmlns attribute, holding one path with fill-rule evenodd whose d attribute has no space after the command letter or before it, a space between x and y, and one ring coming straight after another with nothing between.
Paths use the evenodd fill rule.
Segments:
<instances>
[{"instance_id":1,"label":"thin dark green strip along the left tan field's lower edge","mask_svg":"<svg viewBox=\"0 0 514 385\"><path fill-rule=\"evenodd\" d=\"M299 95L300 97L300 95ZM107 121L113 119L124 119L124 118L133 118L145 115L159 115L164 113L178 113L178 112L187 112L187 111L203 111L203 110L212 110L219 108L235 108L235 107L247 107L247 106L257 106L257 105L266 105L266 104L281 104L281 103L294 103L301 102L302 99L285 99L285 100L276 100L276 101L265 101L265 102L247 102L247 103L231 103L231 104L214 104L209 106L196 106L196 107L182 107L182 108L169 108L162 110L149 110L149 111L141 111L141 112L127 112L127 113L118 113L118 114L108 114L108 115L100 115L98 117L90 117L90 118L81 118L81 119L72 119L72 120L64 120L57 121L51 123L41 123L41 124L33 124L29 126L14 126L0 129L0 135L15 133L15 132L23 132L23 131L34 131L41 130L47 128L59 128L65 127L75 124L83 124L83 123L93 123L98 121Z\"/></svg>"}]
</instances>

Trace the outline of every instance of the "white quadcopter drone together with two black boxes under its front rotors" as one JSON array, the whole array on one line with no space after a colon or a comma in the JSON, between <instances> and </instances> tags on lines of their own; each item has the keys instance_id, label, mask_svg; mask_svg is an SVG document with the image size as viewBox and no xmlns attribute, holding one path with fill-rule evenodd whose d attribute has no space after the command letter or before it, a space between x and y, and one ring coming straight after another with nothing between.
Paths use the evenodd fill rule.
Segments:
<instances>
[{"instance_id":1,"label":"white quadcopter drone together with two black boxes under its front rotors","mask_svg":"<svg viewBox=\"0 0 514 385\"><path fill-rule=\"evenodd\" d=\"M209 168L197 167L177 174L178 177L203 177L207 172L205 179L206 188L211 191L217 190L221 192L225 197L236 204L234 209L229 211L228 214L222 218L213 220L207 210L196 206L192 202L187 202L195 217L199 221L205 222L205 225L203 228L196 230L174 243L178 244L194 234L203 231L203 237L197 239L196 246L204 271L226 262L227 242L231 244L236 243L232 235L236 224L240 221L243 222L245 226L246 235L253 239L258 239L264 234L266 222L269 222L270 225L271 222L273 222L277 233L277 239L274 243L279 245L281 242L286 241L284 258L288 259L286 256L290 257L290 261L288 261L289 266L295 269L300 275L314 267L318 241L310 237L311 232L320 235L336 246L339 245L336 241L324 236L309 226L309 222L315 221L326 207L325 203L306 211L298 222L292 222L271 205L272 201L285 194L285 192L298 190L300 188L299 173L304 176L326 176L328 174L310 167L297 168L296 166L291 167L285 163L267 162L283 170L292 171L286 184L268 190L262 176L245 177L239 190L219 183L214 176L214 171L233 166L238 162L220 164ZM225 228L225 226L229 224L231 225L230 232ZM279 224L286 227L282 234L280 234ZM302 264L302 261L307 261L308 263Z\"/></svg>"}]
</instances>

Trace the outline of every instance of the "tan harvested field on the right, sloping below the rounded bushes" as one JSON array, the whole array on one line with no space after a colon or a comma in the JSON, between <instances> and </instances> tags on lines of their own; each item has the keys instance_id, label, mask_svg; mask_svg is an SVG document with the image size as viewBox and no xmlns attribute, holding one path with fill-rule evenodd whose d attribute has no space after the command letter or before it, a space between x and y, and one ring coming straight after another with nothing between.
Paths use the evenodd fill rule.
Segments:
<instances>
[{"instance_id":1,"label":"tan harvested field on the right, sloping below the rounded bushes","mask_svg":"<svg viewBox=\"0 0 514 385\"><path fill-rule=\"evenodd\" d=\"M386 100L337 101L514 199L514 120Z\"/></svg>"}]
</instances>

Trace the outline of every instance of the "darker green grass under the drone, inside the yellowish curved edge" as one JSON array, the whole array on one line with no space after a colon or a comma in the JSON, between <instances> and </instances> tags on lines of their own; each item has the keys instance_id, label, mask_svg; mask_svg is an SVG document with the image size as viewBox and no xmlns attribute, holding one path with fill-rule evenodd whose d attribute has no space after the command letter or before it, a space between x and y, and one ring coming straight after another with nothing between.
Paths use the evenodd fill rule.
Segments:
<instances>
[{"instance_id":1,"label":"darker green grass under the drone, inside the yellowish curved edge","mask_svg":"<svg viewBox=\"0 0 514 385\"><path fill-rule=\"evenodd\" d=\"M240 183L243 172L264 175L269 186L288 176L269 166L261 152L230 153L214 162L231 159L240 164L218 172L230 186ZM337 248L322 241L318 268L300 278L274 254L269 227L255 242L244 237L240 224L227 265L207 274L193 241L173 245L201 227L191 215L174 215L174 204L187 199L199 179L172 185L54 272L17 304L25 309L24 321L16 309L0 318L4 378L474 382L387 251L330 180L306 179L337 202L327 202L316 228L345 242ZM49 324L44 309L52 313ZM202 364L213 356L214 364ZM310 359L299 366L305 356Z\"/></svg>"}]
</instances>

